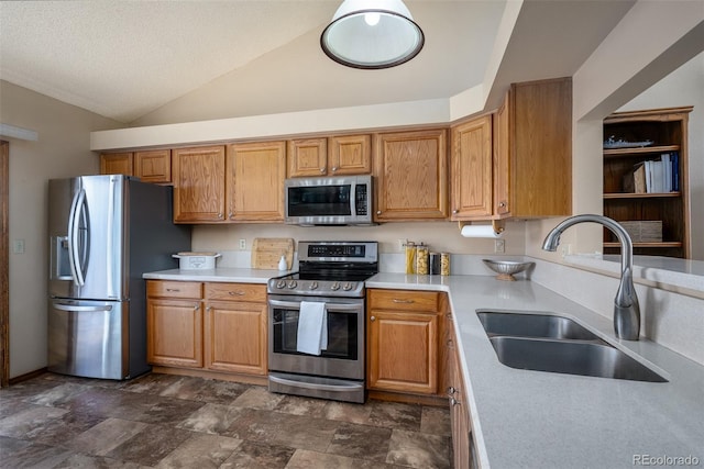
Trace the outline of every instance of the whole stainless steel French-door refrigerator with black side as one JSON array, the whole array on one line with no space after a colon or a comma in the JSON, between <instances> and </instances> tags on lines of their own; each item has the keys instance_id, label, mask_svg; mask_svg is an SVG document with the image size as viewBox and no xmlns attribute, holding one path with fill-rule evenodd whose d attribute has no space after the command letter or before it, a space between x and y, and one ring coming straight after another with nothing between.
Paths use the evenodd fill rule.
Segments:
<instances>
[{"instance_id":1,"label":"whole stainless steel French-door refrigerator with black side","mask_svg":"<svg viewBox=\"0 0 704 469\"><path fill-rule=\"evenodd\" d=\"M172 188L125 176L48 181L48 370L128 379L146 362L142 273L176 267L190 227L174 225Z\"/></svg>"}]
</instances>

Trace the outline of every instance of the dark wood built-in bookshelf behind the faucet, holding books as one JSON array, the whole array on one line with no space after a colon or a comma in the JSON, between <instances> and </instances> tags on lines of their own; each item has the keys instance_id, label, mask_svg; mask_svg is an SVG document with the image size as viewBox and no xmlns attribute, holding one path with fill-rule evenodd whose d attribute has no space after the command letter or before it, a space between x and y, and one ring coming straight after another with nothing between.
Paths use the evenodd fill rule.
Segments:
<instances>
[{"instance_id":1,"label":"dark wood built-in bookshelf behind the faucet, holding books","mask_svg":"<svg viewBox=\"0 0 704 469\"><path fill-rule=\"evenodd\" d=\"M604 148L604 215L626 222L637 255L690 256L691 111L692 107L617 112L604 120L604 139L622 146ZM604 253L619 253L608 230Z\"/></svg>"}]
</instances>

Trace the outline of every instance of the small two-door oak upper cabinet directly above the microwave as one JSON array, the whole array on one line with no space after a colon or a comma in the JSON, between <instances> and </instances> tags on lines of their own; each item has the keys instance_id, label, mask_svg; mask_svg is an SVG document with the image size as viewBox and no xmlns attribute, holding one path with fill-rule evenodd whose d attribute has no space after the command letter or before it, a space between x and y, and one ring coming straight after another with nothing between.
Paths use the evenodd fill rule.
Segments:
<instances>
[{"instance_id":1,"label":"small two-door oak upper cabinet directly above the microwave","mask_svg":"<svg viewBox=\"0 0 704 469\"><path fill-rule=\"evenodd\" d=\"M369 175L372 137L339 135L288 142L288 177Z\"/></svg>"}]
</instances>

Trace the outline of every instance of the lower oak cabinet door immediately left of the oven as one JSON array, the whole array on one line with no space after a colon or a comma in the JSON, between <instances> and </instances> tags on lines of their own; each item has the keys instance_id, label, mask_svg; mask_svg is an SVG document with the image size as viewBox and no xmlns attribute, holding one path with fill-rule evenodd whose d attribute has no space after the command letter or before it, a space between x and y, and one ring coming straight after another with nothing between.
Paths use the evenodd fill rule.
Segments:
<instances>
[{"instance_id":1,"label":"lower oak cabinet door immediately left of the oven","mask_svg":"<svg viewBox=\"0 0 704 469\"><path fill-rule=\"evenodd\" d=\"M206 368L267 373L266 303L208 302Z\"/></svg>"}]
</instances>

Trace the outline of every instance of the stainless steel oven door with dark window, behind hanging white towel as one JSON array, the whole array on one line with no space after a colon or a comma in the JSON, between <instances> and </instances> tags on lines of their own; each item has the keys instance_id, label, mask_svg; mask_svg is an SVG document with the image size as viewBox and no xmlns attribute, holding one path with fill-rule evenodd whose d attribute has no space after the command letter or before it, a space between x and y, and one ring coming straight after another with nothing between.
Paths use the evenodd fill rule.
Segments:
<instances>
[{"instance_id":1,"label":"stainless steel oven door with dark window, behind hanging white towel","mask_svg":"<svg viewBox=\"0 0 704 469\"><path fill-rule=\"evenodd\" d=\"M320 355L296 351L301 301L326 303L328 347ZM270 295L271 371L364 380L364 299Z\"/></svg>"}]
</instances>

